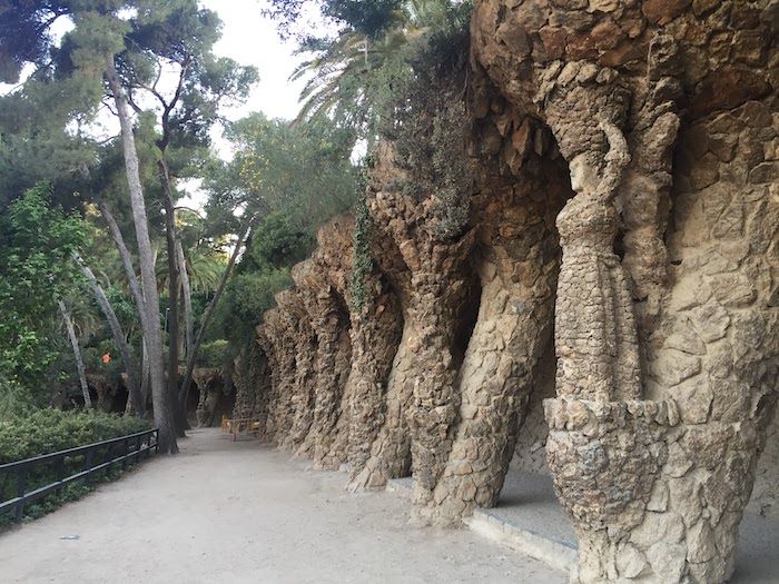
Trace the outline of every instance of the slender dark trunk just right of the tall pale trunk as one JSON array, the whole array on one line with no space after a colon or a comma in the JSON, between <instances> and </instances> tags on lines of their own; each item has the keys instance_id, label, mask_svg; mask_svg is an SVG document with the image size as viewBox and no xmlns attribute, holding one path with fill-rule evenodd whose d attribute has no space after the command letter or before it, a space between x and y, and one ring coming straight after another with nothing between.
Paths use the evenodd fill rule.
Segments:
<instances>
[{"instance_id":1,"label":"slender dark trunk just right of the tall pale trunk","mask_svg":"<svg viewBox=\"0 0 779 584\"><path fill-rule=\"evenodd\" d=\"M186 412L178 407L178 288L179 278L183 271L178 263L176 241L176 209L174 206L172 185L170 181L170 169L165 160L165 152L157 162L159 167L159 179L165 192L165 240L168 246L168 297L170 306L168 308L168 397L172 408L174 422L176 423L176 434L184 437L187 429Z\"/></svg>"}]
</instances>

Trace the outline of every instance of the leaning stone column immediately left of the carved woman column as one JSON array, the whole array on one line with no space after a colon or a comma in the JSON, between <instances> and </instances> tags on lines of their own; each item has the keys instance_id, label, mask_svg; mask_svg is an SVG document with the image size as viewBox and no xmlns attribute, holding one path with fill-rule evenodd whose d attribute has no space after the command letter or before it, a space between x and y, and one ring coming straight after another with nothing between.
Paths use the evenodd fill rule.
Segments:
<instances>
[{"instance_id":1,"label":"leaning stone column immediately left of the carved woman column","mask_svg":"<svg viewBox=\"0 0 779 584\"><path fill-rule=\"evenodd\" d=\"M457 523L474 506L497 501L551 342L560 258L554 218L570 196L565 167L550 158L548 131L489 87L474 86L472 261L482 294L458 374L454 446L423 512L436 523Z\"/></svg>"}]
</instances>

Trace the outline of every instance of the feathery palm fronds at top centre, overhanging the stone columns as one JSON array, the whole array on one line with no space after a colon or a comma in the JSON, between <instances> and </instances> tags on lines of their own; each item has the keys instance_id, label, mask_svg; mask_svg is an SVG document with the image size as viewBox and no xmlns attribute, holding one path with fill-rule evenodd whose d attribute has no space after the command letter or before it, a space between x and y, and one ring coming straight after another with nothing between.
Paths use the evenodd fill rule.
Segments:
<instances>
[{"instance_id":1,"label":"feathery palm fronds at top centre, overhanging the stone columns","mask_svg":"<svg viewBox=\"0 0 779 584\"><path fill-rule=\"evenodd\" d=\"M366 36L358 19L353 19L337 38L302 47L318 47L293 75L308 79L300 96L302 118L327 113L373 142L407 109L408 87L420 73L451 69L452 60L466 58L463 39L467 39L470 2L406 0L397 4L378 29L381 34Z\"/></svg>"}]
</instances>

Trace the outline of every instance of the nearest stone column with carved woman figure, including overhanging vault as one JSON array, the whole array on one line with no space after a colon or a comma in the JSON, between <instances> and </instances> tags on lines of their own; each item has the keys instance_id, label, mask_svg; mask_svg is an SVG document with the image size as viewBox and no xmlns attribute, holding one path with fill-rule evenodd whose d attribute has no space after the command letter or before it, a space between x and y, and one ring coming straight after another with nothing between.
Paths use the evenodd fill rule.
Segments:
<instances>
[{"instance_id":1,"label":"nearest stone column with carved woman figure, including overhanging vault","mask_svg":"<svg viewBox=\"0 0 779 584\"><path fill-rule=\"evenodd\" d=\"M549 125L578 191L558 219L569 259L560 398L546 402L576 581L732 572L777 397L777 13L770 1L476 4L477 59Z\"/></svg>"}]
</instances>

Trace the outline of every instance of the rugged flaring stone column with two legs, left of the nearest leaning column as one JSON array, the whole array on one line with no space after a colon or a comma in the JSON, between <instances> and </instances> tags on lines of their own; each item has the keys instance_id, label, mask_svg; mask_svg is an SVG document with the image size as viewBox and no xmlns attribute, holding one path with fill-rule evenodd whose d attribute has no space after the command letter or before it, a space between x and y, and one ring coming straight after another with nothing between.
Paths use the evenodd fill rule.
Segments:
<instances>
[{"instance_id":1,"label":"rugged flaring stone column with two legs, left of the nearest leaning column","mask_svg":"<svg viewBox=\"0 0 779 584\"><path fill-rule=\"evenodd\" d=\"M373 174L368 209L374 225L394 241L407 270L401 281L406 326L395 364L400 375L391 380L387 396L385 429L357 481L381 486L401 475L407 467L410 444L415 498L422 505L432 496L452 446L458 408L455 385L462 362L457 335L473 290L467 258L474 234L442 237L436 230L435 194L423 194L420 199L396 187L414 180L396 156L389 145L382 152Z\"/></svg>"}]
</instances>

